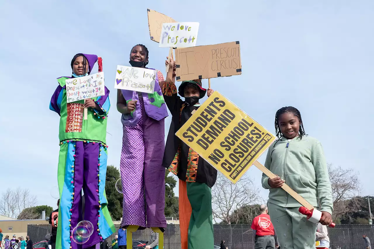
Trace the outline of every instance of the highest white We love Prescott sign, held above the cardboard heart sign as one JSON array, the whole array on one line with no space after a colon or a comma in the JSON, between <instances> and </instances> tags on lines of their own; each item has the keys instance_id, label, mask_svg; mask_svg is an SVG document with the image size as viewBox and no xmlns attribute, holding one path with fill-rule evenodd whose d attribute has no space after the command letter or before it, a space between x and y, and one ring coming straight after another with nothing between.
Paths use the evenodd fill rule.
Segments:
<instances>
[{"instance_id":1,"label":"highest white We love Prescott sign, held above the cardboard heart sign","mask_svg":"<svg viewBox=\"0 0 374 249\"><path fill-rule=\"evenodd\" d=\"M159 47L196 46L198 22L163 23Z\"/></svg>"}]
</instances>

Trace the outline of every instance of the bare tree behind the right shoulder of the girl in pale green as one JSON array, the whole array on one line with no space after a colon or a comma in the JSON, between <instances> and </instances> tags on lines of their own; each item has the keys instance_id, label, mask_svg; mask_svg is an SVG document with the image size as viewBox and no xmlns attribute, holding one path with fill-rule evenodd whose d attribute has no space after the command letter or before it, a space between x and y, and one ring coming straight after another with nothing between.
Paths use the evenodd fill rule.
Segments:
<instances>
[{"instance_id":1,"label":"bare tree behind the right shoulder of the girl in pale green","mask_svg":"<svg viewBox=\"0 0 374 249\"><path fill-rule=\"evenodd\" d=\"M360 208L360 201L356 198L360 190L358 172L353 169L342 169L340 166L336 167L329 163L328 174L334 204L332 218L352 220L351 215Z\"/></svg>"}]
</instances>

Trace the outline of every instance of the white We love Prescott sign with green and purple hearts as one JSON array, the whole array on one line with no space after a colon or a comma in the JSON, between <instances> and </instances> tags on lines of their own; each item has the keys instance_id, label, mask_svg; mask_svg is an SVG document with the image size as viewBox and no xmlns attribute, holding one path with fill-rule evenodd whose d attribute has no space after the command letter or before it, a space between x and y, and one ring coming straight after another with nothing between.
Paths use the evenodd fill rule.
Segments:
<instances>
[{"instance_id":1,"label":"white We love Prescott sign with green and purple hearts","mask_svg":"<svg viewBox=\"0 0 374 249\"><path fill-rule=\"evenodd\" d=\"M117 65L114 88L153 93L156 77L156 70Z\"/></svg>"}]
</instances>

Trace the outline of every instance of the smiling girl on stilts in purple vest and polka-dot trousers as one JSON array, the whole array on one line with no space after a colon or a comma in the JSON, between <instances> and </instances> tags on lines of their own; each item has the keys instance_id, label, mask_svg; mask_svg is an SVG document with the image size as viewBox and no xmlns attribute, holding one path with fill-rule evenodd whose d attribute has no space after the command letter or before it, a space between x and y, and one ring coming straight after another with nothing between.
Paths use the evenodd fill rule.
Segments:
<instances>
[{"instance_id":1,"label":"smiling girl on stilts in purple vest and polka-dot trousers","mask_svg":"<svg viewBox=\"0 0 374 249\"><path fill-rule=\"evenodd\" d=\"M129 63L132 67L146 68L147 47L134 46ZM133 95L130 90L117 91L117 110L122 113L123 124L121 226L132 225L129 231L147 227L163 231L166 228L165 168L161 164L165 149L164 119L168 110L160 88L165 79L159 70L156 71L154 93Z\"/></svg>"}]
</instances>

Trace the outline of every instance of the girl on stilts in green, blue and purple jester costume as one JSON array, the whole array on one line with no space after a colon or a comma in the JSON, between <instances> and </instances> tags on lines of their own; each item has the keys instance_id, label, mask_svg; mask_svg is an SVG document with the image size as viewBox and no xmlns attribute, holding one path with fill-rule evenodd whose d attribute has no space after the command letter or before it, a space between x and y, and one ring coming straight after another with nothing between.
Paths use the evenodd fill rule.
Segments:
<instances>
[{"instance_id":1,"label":"girl on stilts in green, blue and purple jester costume","mask_svg":"<svg viewBox=\"0 0 374 249\"><path fill-rule=\"evenodd\" d=\"M58 186L60 193L56 249L85 249L95 246L114 231L105 196L107 172L107 115L110 108L109 90L105 95L86 101L67 103L65 81L88 76L98 61L96 55L79 53L71 60L71 77L57 79L49 108L60 116ZM99 72L101 71L99 58ZM95 76L92 76L95 77ZM87 119L83 117L88 109ZM85 210L82 217L82 189ZM71 231L82 220L93 224L94 232L83 245L71 240Z\"/></svg>"}]
</instances>

